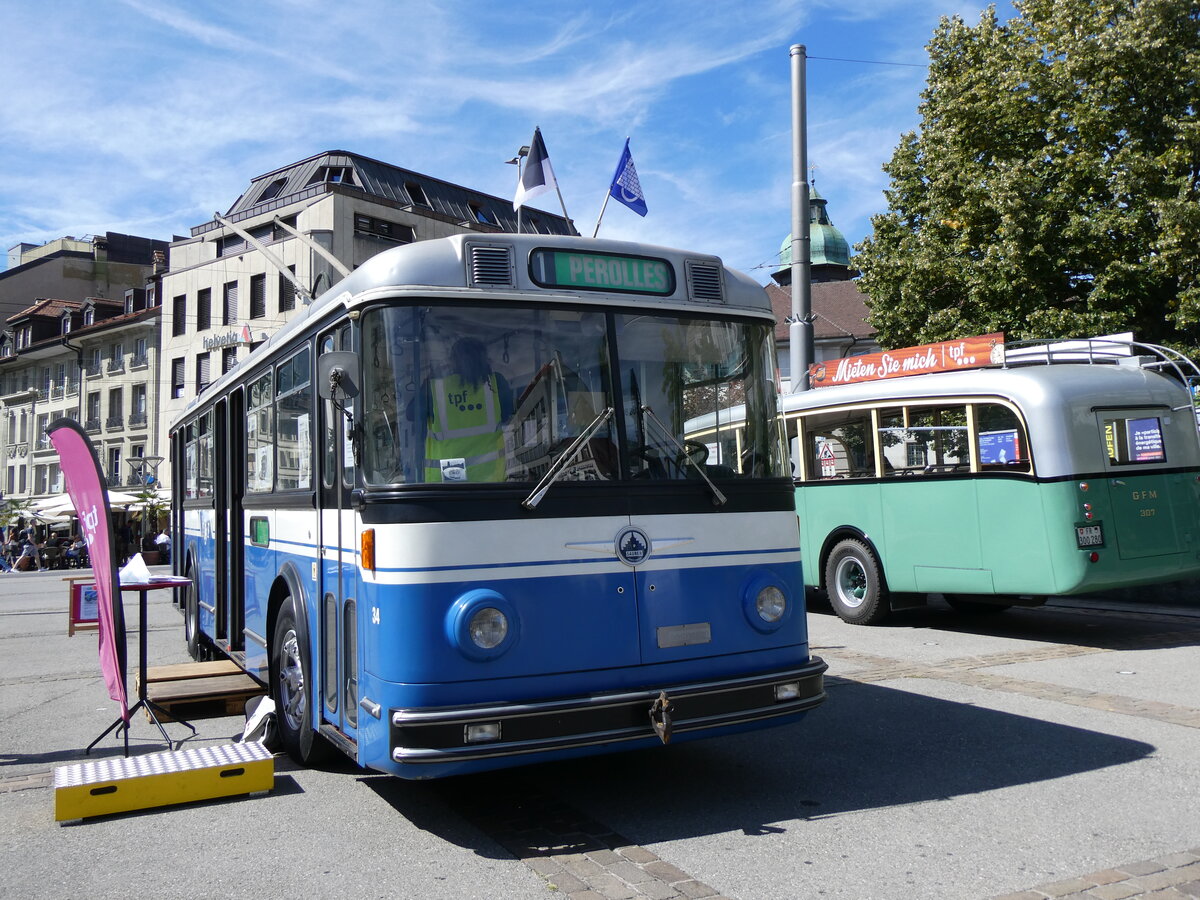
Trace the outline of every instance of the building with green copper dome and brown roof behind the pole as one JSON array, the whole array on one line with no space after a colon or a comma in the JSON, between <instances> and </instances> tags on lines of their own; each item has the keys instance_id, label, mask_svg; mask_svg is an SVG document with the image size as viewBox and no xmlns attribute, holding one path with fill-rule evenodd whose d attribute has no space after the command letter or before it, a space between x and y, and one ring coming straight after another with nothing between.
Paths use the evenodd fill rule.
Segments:
<instances>
[{"instance_id":1,"label":"building with green copper dome and brown roof behind the pole","mask_svg":"<svg viewBox=\"0 0 1200 900\"><path fill-rule=\"evenodd\" d=\"M809 199L809 258L811 260L814 362L859 356L881 349L870 324L866 298L852 278L858 272L850 264L850 245L834 226L827 200L811 188ZM779 250L779 269L767 286L775 311L775 343L784 391L791 384L792 320L792 235Z\"/></svg>"}]
</instances>

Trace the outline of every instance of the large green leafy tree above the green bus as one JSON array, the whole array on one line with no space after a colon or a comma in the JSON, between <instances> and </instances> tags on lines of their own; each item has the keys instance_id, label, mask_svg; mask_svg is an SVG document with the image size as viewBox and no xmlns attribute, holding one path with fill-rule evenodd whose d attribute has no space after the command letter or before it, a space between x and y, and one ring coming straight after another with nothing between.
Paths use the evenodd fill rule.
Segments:
<instances>
[{"instance_id":1,"label":"large green leafy tree above the green bus","mask_svg":"<svg viewBox=\"0 0 1200 900\"><path fill-rule=\"evenodd\" d=\"M920 127L854 258L881 343L1200 347L1200 4L1014 6L929 44Z\"/></svg>"}]
</instances>

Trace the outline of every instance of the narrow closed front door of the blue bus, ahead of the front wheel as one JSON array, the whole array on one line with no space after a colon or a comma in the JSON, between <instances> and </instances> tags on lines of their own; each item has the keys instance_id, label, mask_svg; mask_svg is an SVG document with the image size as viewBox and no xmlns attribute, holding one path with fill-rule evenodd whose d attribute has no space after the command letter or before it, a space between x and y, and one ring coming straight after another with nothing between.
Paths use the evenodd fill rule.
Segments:
<instances>
[{"instance_id":1,"label":"narrow closed front door of the blue bus, ahead of the front wheel","mask_svg":"<svg viewBox=\"0 0 1200 900\"><path fill-rule=\"evenodd\" d=\"M343 325L318 342L322 353L350 349L350 329ZM318 397L320 410L320 490L317 556L319 568L317 647L322 718L352 740L358 739L359 715L359 572L355 557L358 533L350 509L354 485L354 450L346 413L355 401L346 400L344 412L334 401ZM340 511L341 510L341 511Z\"/></svg>"}]
</instances>

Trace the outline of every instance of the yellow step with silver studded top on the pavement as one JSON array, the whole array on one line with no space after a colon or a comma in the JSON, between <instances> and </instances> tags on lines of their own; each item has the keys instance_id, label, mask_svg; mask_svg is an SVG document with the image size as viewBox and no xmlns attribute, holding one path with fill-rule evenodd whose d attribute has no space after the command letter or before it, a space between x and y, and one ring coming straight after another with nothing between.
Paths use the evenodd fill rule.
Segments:
<instances>
[{"instance_id":1,"label":"yellow step with silver studded top on the pavement","mask_svg":"<svg viewBox=\"0 0 1200 900\"><path fill-rule=\"evenodd\" d=\"M275 758L258 742L96 760L54 769L54 820L260 793L275 784Z\"/></svg>"}]
</instances>

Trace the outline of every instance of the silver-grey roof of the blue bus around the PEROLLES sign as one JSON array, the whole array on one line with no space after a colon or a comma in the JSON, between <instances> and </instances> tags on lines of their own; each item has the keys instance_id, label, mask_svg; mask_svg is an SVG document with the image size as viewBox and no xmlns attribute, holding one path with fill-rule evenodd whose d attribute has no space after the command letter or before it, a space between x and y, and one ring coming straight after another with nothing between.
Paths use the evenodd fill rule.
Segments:
<instances>
[{"instance_id":1,"label":"silver-grey roof of the blue bus around the PEROLLES sign","mask_svg":"<svg viewBox=\"0 0 1200 900\"><path fill-rule=\"evenodd\" d=\"M536 250L568 253L594 263L617 266L608 284L586 283L581 275L574 286L546 286L534 280L532 254ZM636 281L622 284L619 264L623 260L656 260L670 264L672 289L667 293L642 290ZM605 270L607 271L607 270ZM629 275L624 277L630 278ZM461 299L456 292L472 289L472 299L508 300L514 292L527 292L523 299L535 295L539 302L593 302L604 306L654 308L661 312L695 312L710 308L738 316L752 316L774 322L770 299L762 284L743 272L725 266L720 258L684 250L631 241L576 238L551 234L455 234L449 238L415 241L385 250L370 259L300 310L262 347L242 360L232 372L217 378L203 394L192 400L175 418L170 428L187 419L208 397L236 380L258 360L296 335L304 334L313 322L320 322L338 308L355 307L384 298L419 298L438 302Z\"/></svg>"}]
</instances>

